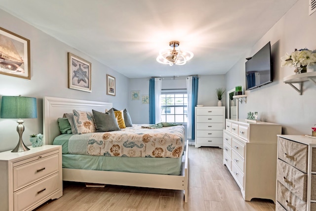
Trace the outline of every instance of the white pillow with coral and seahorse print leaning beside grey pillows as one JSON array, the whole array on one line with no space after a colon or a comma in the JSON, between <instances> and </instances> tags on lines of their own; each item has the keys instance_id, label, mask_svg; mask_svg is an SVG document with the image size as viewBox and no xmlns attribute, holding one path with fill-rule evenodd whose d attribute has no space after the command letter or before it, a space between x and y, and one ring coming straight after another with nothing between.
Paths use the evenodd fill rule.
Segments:
<instances>
[{"instance_id":1,"label":"white pillow with coral and seahorse print leaning beside grey pillows","mask_svg":"<svg viewBox=\"0 0 316 211\"><path fill-rule=\"evenodd\" d=\"M73 110L73 113L78 134L96 131L91 112Z\"/></svg>"}]
</instances>

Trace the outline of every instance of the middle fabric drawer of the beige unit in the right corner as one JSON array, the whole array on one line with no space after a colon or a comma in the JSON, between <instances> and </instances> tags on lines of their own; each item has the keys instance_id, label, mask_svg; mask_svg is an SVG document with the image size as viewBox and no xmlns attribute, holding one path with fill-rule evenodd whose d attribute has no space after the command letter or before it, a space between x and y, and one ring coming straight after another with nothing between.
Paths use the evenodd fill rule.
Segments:
<instances>
[{"instance_id":1,"label":"middle fabric drawer of the beige unit in the right corner","mask_svg":"<svg viewBox=\"0 0 316 211\"><path fill-rule=\"evenodd\" d=\"M306 201L307 174L277 159L276 178L287 189Z\"/></svg>"}]
</instances>

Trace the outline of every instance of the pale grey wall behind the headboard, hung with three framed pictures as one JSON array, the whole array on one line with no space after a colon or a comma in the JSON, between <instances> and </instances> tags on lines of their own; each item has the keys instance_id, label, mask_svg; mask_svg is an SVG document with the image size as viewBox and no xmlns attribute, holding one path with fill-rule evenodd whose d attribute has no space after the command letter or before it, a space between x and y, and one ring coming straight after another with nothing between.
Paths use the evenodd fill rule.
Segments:
<instances>
[{"instance_id":1,"label":"pale grey wall behind the headboard, hung with three framed pictures","mask_svg":"<svg viewBox=\"0 0 316 211\"><path fill-rule=\"evenodd\" d=\"M0 97L22 95L38 99L38 118L24 120L23 140L26 145L31 145L30 134L42 133L43 96L112 102L118 109L128 109L127 77L3 10L0 10L0 20L2 28L31 41L31 80L0 75ZM68 88L67 52L92 63L91 93ZM116 78L116 96L106 94L106 74ZM16 126L16 120L0 119L0 152L16 146L19 139Z\"/></svg>"}]
</instances>

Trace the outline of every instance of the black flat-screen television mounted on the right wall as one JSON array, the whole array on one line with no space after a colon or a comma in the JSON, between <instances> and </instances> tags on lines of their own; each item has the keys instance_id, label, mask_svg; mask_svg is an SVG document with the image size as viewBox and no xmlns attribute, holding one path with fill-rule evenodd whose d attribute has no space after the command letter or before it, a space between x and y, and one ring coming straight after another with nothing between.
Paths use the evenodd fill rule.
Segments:
<instances>
[{"instance_id":1,"label":"black flat-screen television mounted on the right wall","mask_svg":"<svg viewBox=\"0 0 316 211\"><path fill-rule=\"evenodd\" d=\"M269 84L273 81L271 45L268 42L246 61L246 90Z\"/></svg>"}]
</instances>

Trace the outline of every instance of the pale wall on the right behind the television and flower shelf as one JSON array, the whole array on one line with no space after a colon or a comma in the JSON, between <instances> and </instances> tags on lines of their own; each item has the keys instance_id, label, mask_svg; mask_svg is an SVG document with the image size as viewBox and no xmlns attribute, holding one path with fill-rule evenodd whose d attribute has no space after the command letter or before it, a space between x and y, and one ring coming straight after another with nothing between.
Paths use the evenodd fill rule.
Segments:
<instances>
[{"instance_id":1,"label":"pale wall on the right behind the television and flower shelf","mask_svg":"<svg viewBox=\"0 0 316 211\"><path fill-rule=\"evenodd\" d=\"M280 67L280 57L294 48L316 50L316 12L309 16L308 1L299 0L243 58L255 54L269 41L274 60L274 82L246 91L247 103L239 103L239 118L246 119L247 112L257 111L259 120L282 125L283 134L311 134L316 124L316 85L306 82L303 95L299 95L283 78L294 75L293 67ZM258 26L260 27L260 26ZM255 29L254 29L255 30ZM241 59L226 75L226 89L245 86L245 61ZM313 66L308 72L316 71Z\"/></svg>"}]
</instances>

